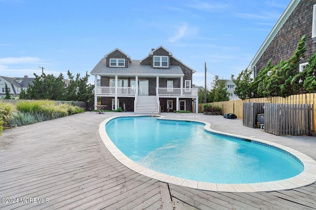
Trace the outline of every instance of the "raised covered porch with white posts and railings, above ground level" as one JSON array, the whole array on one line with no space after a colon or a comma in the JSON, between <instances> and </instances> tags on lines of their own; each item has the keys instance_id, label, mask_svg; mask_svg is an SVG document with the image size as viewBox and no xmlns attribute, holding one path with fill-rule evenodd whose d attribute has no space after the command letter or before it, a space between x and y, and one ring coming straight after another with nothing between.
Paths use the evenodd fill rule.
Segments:
<instances>
[{"instance_id":1,"label":"raised covered porch with white posts and railings, above ground level","mask_svg":"<svg viewBox=\"0 0 316 210\"><path fill-rule=\"evenodd\" d=\"M100 79L98 79L98 76ZM176 99L176 110L180 110L181 98L195 100L197 113L197 89L192 88L191 80L184 79L183 75L95 75L94 104L98 97L114 97L115 109L118 109L118 97L156 96ZM182 102L183 103L183 102Z\"/></svg>"}]
</instances>

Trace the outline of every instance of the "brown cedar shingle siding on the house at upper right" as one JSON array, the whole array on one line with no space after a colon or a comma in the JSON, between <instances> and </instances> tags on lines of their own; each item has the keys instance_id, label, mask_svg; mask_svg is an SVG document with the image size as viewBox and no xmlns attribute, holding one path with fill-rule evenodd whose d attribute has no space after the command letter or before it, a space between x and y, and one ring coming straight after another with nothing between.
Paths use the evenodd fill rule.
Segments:
<instances>
[{"instance_id":1,"label":"brown cedar shingle siding on the house at upper right","mask_svg":"<svg viewBox=\"0 0 316 210\"><path fill-rule=\"evenodd\" d=\"M298 42L306 34L307 60L316 52L316 37L312 38L313 5L316 0L301 0L292 14L286 20L264 54L256 63L257 73L272 59L272 64L279 64L280 60L288 60L295 52Z\"/></svg>"}]
</instances>

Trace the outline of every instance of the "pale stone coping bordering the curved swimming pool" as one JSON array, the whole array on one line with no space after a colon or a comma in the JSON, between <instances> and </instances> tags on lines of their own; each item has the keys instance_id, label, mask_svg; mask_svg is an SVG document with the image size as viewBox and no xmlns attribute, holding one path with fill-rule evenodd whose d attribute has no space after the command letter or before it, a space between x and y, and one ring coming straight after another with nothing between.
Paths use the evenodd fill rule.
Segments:
<instances>
[{"instance_id":1,"label":"pale stone coping bordering the curved swimming pool","mask_svg":"<svg viewBox=\"0 0 316 210\"><path fill-rule=\"evenodd\" d=\"M143 115L148 116L148 115ZM121 117L135 117L135 116L115 116L108 118L102 121L99 125L99 134L103 141L105 147L112 153L112 155L123 165L128 167L129 169L135 171L136 173L142 174L144 176L168 182L172 184L177 184L180 186L200 189L200 190L208 190L208 191L220 191L220 192L263 192L263 191L275 191L275 190L285 190L285 189L293 189L302 186L306 186L312 184L316 181L316 161L311 157L303 154L298 150L294 150L292 148L276 144L273 142L269 142L262 139L246 137L241 135L233 135L230 133L225 133L221 131L216 131L210 128L211 123L199 120L179 120L179 119L163 119L164 116L159 116L161 120L177 120L177 121L193 121L193 122L200 122L205 124L204 129L217 134L223 134L227 136L233 136L241 139L246 140L253 140L256 142L261 142L281 150L285 150L295 157L297 157L304 165L304 171L295 177L288 178L285 180L276 180L276 181L267 181L267 182L258 182L258 183L247 183L247 184L222 184L222 183L211 183L211 182L202 182L202 181L195 181L195 180L186 180L183 178L178 178L174 176L170 176L167 174L162 174L160 172L148 169L144 166L139 165L138 163L134 162L130 158L128 158L123 152L121 152L111 141L108 134L105 130L105 125L112 119L121 118ZM137 117L142 117L141 115Z\"/></svg>"}]
</instances>

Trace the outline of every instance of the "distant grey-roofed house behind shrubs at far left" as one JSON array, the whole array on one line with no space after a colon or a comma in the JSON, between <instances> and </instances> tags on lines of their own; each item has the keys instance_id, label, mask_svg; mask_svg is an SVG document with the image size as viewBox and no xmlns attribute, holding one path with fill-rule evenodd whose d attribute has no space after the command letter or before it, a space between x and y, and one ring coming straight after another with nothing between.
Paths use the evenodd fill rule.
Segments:
<instances>
[{"instance_id":1,"label":"distant grey-roofed house behind shrubs at far left","mask_svg":"<svg viewBox=\"0 0 316 210\"><path fill-rule=\"evenodd\" d=\"M0 98L5 97L5 83L9 89L10 95L19 96L21 90L27 90L28 85L34 85L35 78L29 78L27 75L21 77L0 76Z\"/></svg>"}]
</instances>

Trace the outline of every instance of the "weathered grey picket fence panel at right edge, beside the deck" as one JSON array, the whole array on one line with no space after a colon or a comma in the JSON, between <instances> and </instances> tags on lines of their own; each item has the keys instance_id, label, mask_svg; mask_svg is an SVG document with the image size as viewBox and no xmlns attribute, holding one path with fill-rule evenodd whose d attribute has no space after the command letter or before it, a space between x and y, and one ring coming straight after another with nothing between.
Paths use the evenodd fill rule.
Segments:
<instances>
[{"instance_id":1,"label":"weathered grey picket fence panel at right edge, beside the deck","mask_svg":"<svg viewBox=\"0 0 316 210\"><path fill-rule=\"evenodd\" d=\"M314 104L265 103L265 132L275 135L312 135L314 123Z\"/></svg>"}]
</instances>

